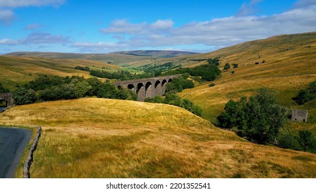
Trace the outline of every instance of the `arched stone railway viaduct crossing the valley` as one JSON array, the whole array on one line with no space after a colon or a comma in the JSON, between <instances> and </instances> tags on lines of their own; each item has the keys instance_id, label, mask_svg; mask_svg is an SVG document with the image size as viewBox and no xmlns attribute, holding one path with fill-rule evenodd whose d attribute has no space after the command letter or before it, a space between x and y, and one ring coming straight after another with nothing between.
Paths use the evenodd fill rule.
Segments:
<instances>
[{"instance_id":1,"label":"arched stone railway viaduct crossing the valley","mask_svg":"<svg viewBox=\"0 0 316 192\"><path fill-rule=\"evenodd\" d=\"M120 88L129 88L137 94L138 101L144 101L147 97L155 97L156 95L165 95L166 86L175 77L180 75L168 75L163 77L152 77L140 80L127 80L122 82L114 82Z\"/></svg>"}]
</instances>

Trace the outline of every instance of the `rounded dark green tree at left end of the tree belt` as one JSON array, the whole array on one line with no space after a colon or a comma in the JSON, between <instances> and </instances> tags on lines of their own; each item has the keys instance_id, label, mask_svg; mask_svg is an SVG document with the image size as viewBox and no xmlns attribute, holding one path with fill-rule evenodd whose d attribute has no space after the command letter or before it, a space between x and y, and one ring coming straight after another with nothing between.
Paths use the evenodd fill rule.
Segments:
<instances>
[{"instance_id":1,"label":"rounded dark green tree at left end of the tree belt","mask_svg":"<svg viewBox=\"0 0 316 192\"><path fill-rule=\"evenodd\" d=\"M35 91L31 88L18 88L13 99L16 105L33 104L36 101Z\"/></svg>"}]
</instances>

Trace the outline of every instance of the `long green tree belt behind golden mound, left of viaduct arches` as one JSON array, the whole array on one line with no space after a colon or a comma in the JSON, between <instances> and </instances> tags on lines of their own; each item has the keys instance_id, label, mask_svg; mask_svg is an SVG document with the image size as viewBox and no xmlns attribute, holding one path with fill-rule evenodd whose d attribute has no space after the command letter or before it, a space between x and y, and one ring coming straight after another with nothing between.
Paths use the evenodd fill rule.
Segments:
<instances>
[{"instance_id":1,"label":"long green tree belt behind golden mound, left of viaduct arches","mask_svg":"<svg viewBox=\"0 0 316 192\"><path fill-rule=\"evenodd\" d=\"M38 91L38 95L36 92ZM83 77L57 77L43 75L25 84L14 92L17 105L31 104L36 100L55 101L80 97L103 97L109 99L136 100L137 95L127 88L117 88L114 84L103 83L96 77L85 80Z\"/></svg>"}]
</instances>

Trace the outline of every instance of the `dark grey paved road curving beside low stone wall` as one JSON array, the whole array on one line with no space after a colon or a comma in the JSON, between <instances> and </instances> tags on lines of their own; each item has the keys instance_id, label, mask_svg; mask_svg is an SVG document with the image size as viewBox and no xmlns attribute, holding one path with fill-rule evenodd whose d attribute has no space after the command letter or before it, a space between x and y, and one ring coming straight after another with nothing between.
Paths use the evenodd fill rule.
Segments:
<instances>
[{"instance_id":1,"label":"dark grey paved road curving beside low stone wall","mask_svg":"<svg viewBox=\"0 0 316 192\"><path fill-rule=\"evenodd\" d=\"M30 130L0 128L0 178L14 178L16 166L30 139Z\"/></svg>"}]
</instances>

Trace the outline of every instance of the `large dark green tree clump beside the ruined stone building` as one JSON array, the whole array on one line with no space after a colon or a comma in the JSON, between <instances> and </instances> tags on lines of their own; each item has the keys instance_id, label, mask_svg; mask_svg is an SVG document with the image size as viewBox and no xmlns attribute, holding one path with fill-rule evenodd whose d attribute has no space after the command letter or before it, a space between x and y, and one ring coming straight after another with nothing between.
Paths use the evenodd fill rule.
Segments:
<instances>
[{"instance_id":1,"label":"large dark green tree clump beside the ruined stone building","mask_svg":"<svg viewBox=\"0 0 316 192\"><path fill-rule=\"evenodd\" d=\"M218 116L221 128L231 129L254 143L276 143L287 110L276 105L275 92L261 88L256 95L239 101L230 100Z\"/></svg>"}]
</instances>

